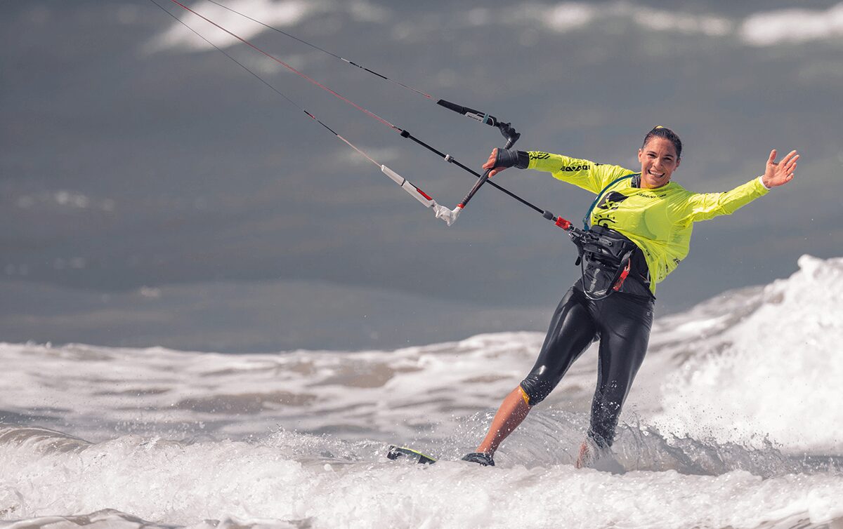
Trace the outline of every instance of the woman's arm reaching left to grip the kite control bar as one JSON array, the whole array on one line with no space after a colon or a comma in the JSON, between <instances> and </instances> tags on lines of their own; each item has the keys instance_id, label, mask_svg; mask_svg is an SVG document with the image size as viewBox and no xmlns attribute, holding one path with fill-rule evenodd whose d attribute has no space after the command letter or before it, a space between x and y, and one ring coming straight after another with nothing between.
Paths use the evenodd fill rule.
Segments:
<instances>
[{"instance_id":1,"label":"woman's arm reaching left to grip the kite control bar","mask_svg":"<svg viewBox=\"0 0 843 529\"><path fill-rule=\"evenodd\" d=\"M615 179L634 173L617 165L604 165L562 154L540 151L499 151L497 148L492 149L489 159L483 164L484 169L492 169L490 178L507 167L545 171L553 174L555 179L577 185L595 194Z\"/></svg>"}]
</instances>

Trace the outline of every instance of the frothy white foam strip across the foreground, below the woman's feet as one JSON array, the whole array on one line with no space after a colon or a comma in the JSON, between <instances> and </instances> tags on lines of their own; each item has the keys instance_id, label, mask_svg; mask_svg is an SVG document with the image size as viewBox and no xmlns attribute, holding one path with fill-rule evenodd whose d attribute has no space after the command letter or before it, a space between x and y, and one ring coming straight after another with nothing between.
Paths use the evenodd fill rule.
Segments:
<instances>
[{"instance_id":1,"label":"frothy white foam strip across the foreground, below the woman's feet","mask_svg":"<svg viewBox=\"0 0 843 529\"><path fill-rule=\"evenodd\" d=\"M61 521L43 518L56 513L103 509L119 512L94 517L126 527L142 524L120 513L172 525L265 527L509 527L518 520L529 527L756 527L776 520L807 527L843 516L843 478L828 473L618 476L571 465L464 462L426 468L389 462L371 443L325 444L329 450L309 446L300 435L194 444L130 435L39 452L6 441L3 468L14 471L0 478L0 512L29 527Z\"/></svg>"}]
</instances>

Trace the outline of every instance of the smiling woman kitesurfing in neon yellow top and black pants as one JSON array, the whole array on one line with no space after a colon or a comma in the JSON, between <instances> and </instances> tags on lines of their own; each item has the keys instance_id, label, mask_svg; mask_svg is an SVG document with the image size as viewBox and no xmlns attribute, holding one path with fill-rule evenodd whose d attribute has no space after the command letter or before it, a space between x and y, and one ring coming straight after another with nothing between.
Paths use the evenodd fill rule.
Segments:
<instances>
[{"instance_id":1,"label":"smiling woman kitesurfing in neon yellow top and black pants","mask_svg":"<svg viewBox=\"0 0 843 529\"><path fill-rule=\"evenodd\" d=\"M591 229L575 239L582 279L556 308L533 369L504 398L486 438L465 461L494 465L501 442L597 339L598 384L576 466L593 466L609 452L620 409L647 351L656 284L688 254L693 223L728 215L787 184L799 158L792 151L776 163L774 149L762 176L726 193L697 194L671 181L681 156L679 136L662 126L649 131L638 149L640 173L547 152L491 152L483 165L492 169L490 176L507 167L547 171L598 199L589 211Z\"/></svg>"}]
</instances>

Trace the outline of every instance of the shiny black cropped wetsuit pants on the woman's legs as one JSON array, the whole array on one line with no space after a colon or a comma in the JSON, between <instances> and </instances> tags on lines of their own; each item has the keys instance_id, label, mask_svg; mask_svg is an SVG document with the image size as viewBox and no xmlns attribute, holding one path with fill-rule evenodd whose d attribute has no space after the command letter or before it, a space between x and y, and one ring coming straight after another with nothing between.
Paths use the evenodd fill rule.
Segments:
<instances>
[{"instance_id":1,"label":"shiny black cropped wetsuit pants on the woman's legs","mask_svg":"<svg viewBox=\"0 0 843 529\"><path fill-rule=\"evenodd\" d=\"M588 435L599 446L611 446L620 408L647 352L653 301L620 292L593 301L578 283L572 286L553 313L533 370L521 382L529 404L544 400L573 361L599 339L597 390Z\"/></svg>"}]
</instances>

